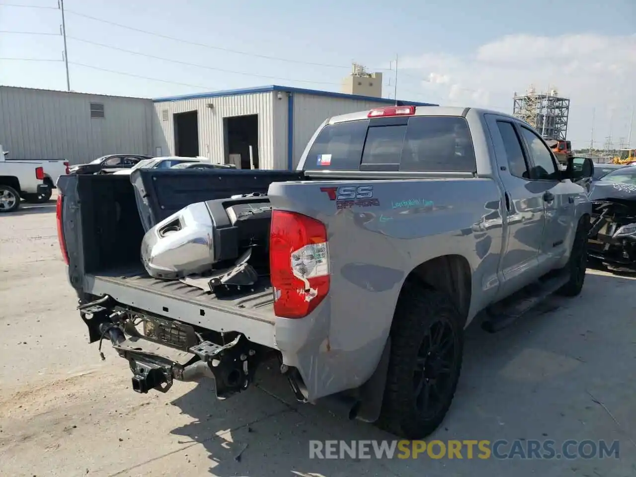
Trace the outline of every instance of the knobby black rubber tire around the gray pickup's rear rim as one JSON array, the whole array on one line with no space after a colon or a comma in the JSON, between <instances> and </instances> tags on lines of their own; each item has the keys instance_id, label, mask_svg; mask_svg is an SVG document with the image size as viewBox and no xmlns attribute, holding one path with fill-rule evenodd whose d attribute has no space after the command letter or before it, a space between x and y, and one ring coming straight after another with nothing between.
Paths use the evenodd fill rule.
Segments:
<instances>
[{"instance_id":1,"label":"knobby black rubber tire around the gray pickup's rear rim","mask_svg":"<svg viewBox=\"0 0 636 477\"><path fill-rule=\"evenodd\" d=\"M441 374L445 379L445 392L436 395L443 396L434 408L424 406L431 412L425 415L426 411L418 410L416 406L416 380L424 377L424 371L420 374L415 368L422 354L426 355L427 349L431 350L430 346L427 347L431 343L428 337L439 329L436 326L440 322L444 323L442 329L452 331L452 351L447 353L452 355L453 364L448 366L448 373ZM446 345L438 348L444 347ZM464 319L450 297L419 284L405 284L391 326L391 357L378 427L407 439L422 439L437 429L455 396L463 352ZM442 381L436 379L436 383ZM427 386L427 389L431 387ZM432 394L427 396L427 403L430 403Z\"/></svg>"}]
</instances>

